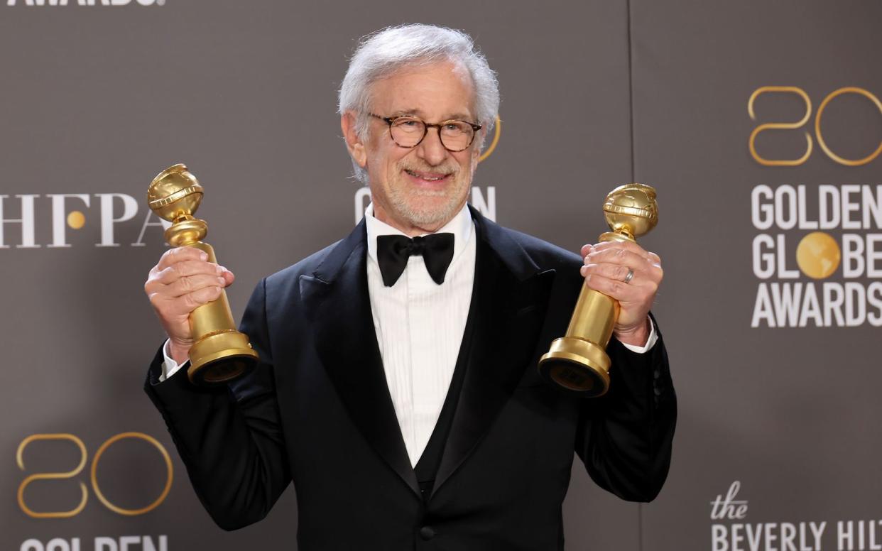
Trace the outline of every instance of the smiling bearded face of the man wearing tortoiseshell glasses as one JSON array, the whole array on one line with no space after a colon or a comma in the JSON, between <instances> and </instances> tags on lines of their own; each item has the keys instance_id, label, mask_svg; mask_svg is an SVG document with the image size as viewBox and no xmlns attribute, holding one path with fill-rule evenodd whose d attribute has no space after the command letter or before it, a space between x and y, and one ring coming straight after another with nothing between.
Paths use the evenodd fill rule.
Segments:
<instances>
[{"instance_id":1,"label":"smiling bearded face of the man wearing tortoiseshell glasses","mask_svg":"<svg viewBox=\"0 0 882 551\"><path fill-rule=\"evenodd\" d=\"M371 87L371 112L380 116L415 115L426 123L451 119L476 122L475 93L466 71L452 63L407 67ZM355 135L355 114L342 119L349 153L368 172L374 216L407 235L436 231L460 212L471 188L478 142L447 151L430 128L419 145L404 148L389 135L389 125L370 117L366 140Z\"/></svg>"}]
</instances>

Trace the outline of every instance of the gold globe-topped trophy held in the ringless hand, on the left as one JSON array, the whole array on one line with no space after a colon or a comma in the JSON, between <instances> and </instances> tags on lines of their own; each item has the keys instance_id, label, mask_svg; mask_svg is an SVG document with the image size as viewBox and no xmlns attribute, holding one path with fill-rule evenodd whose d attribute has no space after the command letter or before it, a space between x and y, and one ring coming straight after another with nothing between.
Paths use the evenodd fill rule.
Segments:
<instances>
[{"instance_id":1,"label":"gold globe-topped trophy held in the ringless hand, on the left","mask_svg":"<svg viewBox=\"0 0 882 551\"><path fill-rule=\"evenodd\" d=\"M202 186L183 164L163 170L150 182L147 204L157 216L171 222L165 239L172 247L194 247L206 252L209 262L217 262L214 249L202 242L208 233L205 220L193 218L202 201ZM235 330L227 293L190 313L193 346L190 348L192 383L226 383L258 363L258 353L248 336Z\"/></svg>"}]
</instances>

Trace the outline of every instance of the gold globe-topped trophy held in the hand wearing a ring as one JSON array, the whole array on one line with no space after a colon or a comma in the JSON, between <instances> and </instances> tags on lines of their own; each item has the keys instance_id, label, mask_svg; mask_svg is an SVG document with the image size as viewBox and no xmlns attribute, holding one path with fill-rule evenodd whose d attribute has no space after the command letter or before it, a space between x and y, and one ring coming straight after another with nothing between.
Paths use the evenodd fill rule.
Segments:
<instances>
[{"instance_id":1,"label":"gold globe-topped trophy held in the hand wearing a ring","mask_svg":"<svg viewBox=\"0 0 882 551\"><path fill-rule=\"evenodd\" d=\"M605 241L634 241L658 222L655 190L642 183L628 183L609 192L603 203L612 229ZM585 396L602 396L609 389L609 356L606 346L618 318L619 304L606 294L582 285L566 336L554 339L539 360L542 376L567 390Z\"/></svg>"}]
</instances>

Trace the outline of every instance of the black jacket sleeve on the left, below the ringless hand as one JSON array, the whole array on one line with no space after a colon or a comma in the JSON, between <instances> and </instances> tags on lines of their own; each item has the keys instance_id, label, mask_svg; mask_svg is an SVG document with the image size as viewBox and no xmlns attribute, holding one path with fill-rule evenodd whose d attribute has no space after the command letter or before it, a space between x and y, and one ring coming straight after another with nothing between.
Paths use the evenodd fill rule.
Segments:
<instances>
[{"instance_id":1,"label":"black jacket sleeve on the left, below the ringless hand","mask_svg":"<svg viewBox=\"0 0 882 551\"><path fill-rule=\"evenodd\" d=\"M197 387L179 369L160 383L160 350L145 383L199 500L225 530L265 517L291 480L275 396L265 281L251 294L240 330L260 356L249 374L228 385Z\"/></svg>"}]
</instances>

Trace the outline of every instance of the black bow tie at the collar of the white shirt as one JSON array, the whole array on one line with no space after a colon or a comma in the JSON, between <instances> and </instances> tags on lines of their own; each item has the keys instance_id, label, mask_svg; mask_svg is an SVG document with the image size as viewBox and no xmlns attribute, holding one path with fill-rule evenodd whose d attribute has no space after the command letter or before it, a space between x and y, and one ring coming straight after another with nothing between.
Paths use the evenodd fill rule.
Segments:
<instances>
[{"instance_id":1,"label":"black bow tie at the collar of the white shirt","mask_svg":"<svg viewBox=\"0 0 882 551\"><path fill-rule=\"evenodd\" d=\"M429 275L441 285L453 259L453 234L430 234L413 239L404 235L377 235L377 264L386 287L395 285L411 255L421 255Z\"/></svg>"}]
</instances>

